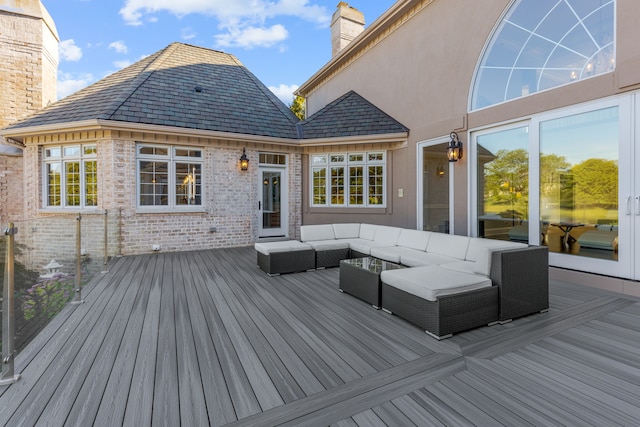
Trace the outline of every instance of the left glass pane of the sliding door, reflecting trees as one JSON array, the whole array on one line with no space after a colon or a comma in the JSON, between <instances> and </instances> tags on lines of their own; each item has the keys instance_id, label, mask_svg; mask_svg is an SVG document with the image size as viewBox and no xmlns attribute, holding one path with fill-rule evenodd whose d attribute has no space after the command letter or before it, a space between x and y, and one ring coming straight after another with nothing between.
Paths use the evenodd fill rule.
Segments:
<instances>
[{"instance_id":1,"label":"left glass pane of the sliding door, reflecting trees","mask_svg":"<svg viewBox=\"0 0 640 427\"><path fill-rule=\"evenodd\" d=\"M529 240L529 131L477 137L478 236Z\"/></svg>"}]
</instances>

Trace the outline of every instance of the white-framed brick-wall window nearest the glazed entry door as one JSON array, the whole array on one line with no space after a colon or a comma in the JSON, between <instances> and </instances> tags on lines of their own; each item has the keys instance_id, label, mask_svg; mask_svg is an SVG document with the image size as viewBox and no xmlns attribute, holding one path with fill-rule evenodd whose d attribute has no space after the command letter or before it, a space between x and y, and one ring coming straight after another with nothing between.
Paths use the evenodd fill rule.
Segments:
<instances>
[{"instance_id":1,"label":"white-framed brick-wall window nearest the glazed entry door","mask_svg":"<svg viewBox=\"0 0 640 427\"><path fill-rule=\"evenodd\" d=\"M140 207L202 205L201 148L139 144L137 150Z\"/></svg>"}]
</instances>

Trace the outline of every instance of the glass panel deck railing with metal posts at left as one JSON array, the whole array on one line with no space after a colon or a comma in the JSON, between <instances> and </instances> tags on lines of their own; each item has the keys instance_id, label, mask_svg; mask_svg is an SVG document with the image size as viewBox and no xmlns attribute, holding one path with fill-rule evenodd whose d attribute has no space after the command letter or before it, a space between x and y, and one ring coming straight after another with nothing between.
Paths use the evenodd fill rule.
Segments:
<instances>
[{"instance_id":1,"label":"glass panel deck railing with metal posts at left","mask_svg":"<svg viewBox=\"0 0 640 427\"><path fill-rule=\"evenodd\" d=\"M41 215L2 224L2 378L13 359L84 287L121 254L121 211ZM6 363L5 363L6 362Z\"/></svg>"}]
</instances>

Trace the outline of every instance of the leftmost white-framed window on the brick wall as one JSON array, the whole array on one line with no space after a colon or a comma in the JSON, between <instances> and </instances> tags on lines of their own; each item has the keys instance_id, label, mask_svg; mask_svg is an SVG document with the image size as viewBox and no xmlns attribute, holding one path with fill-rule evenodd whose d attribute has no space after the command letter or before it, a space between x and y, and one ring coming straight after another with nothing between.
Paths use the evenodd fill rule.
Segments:
<instances>
[{"instance_id":1,"label":"leftmost white-framed window on the brick wall","mask_svg":"<svg viewBox=\"0 0 640 427\"><path fill-rule=\"evenodd\" d=\"M44 206L85 208L98 205L96 145L44 148Z\"/></svg>"}]
</instances>

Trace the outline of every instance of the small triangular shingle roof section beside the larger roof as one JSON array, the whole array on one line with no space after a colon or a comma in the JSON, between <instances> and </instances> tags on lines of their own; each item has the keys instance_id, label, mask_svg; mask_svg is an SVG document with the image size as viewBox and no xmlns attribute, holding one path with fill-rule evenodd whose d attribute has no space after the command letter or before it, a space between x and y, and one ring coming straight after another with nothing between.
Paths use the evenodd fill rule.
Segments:
<instances>
[{"instance_id":1,"label":"small triangular shingle roof section beside the larger roof","mask_svg":"<svg viewBox=\"0 0 640 427\"><path fill-rule=\"evenodd\" d=\"M301 139L338 138L408 132L400 122L349 91L298 123Z\"/></svg>"}]
</instances>

